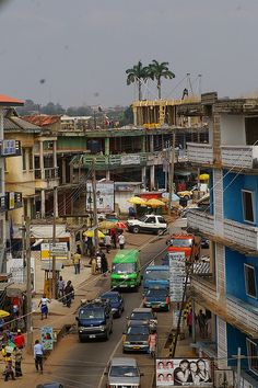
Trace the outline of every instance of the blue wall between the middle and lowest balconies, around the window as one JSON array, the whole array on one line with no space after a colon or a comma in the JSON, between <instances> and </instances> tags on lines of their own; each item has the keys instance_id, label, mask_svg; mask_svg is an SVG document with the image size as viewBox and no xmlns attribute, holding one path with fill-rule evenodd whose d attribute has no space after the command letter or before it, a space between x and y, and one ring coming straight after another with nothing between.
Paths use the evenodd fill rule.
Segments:
<instances>
[{"instance_id":1,"label":"blue wall between the middle and lowest balconies, around the window","mask_svg":"<svg viewBox=\"0 0 258 388\"><path fill-rule=\"evenodd\" d=\"M249 258L236 251L225 248L225 276L226 295L232 295L254 307L258 307L258 299L246 295L244 264L250 264L256 269L256 286L258 294L258 258ZM258 316L257 316L258 319Z\"/></svg>"}]
</instances>

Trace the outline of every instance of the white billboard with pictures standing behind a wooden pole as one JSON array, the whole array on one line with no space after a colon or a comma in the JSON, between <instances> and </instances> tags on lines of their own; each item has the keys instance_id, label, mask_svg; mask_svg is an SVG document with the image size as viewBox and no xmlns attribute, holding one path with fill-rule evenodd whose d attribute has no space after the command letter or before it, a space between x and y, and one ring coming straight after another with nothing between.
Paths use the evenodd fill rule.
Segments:
<instances>
[{"instance_id":1,"label":"white billboard with pictures standing behind a wooden pole","mask_svg":"<svg viewBox=\"0 0 258 388\"><path fill-rule=\"evenodd\" d=\"M97 212L114 212L114 182L96 183L96 206ZM86 184L86 210L93 210L92 183Z\"/></svg>"}]
</instances>

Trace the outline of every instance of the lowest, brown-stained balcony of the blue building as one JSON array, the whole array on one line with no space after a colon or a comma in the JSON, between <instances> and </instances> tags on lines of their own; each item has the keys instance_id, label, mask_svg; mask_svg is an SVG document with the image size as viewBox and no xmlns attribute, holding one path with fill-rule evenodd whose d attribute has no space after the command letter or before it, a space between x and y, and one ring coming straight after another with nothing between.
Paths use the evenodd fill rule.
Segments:
<instances>
[{"instance_id":1,"label":"lowest, brown-stained balcony of the blue building","mask_svg":"<svg viewBox=\"0 0 258 388\"><path fill-rule=\"evenodd\" d=\"M191 295L208 308L247 335L258 338L258 309L232 296L220 299L215 283L209 276L191 276Z\"/></svg>"}]
</instances>

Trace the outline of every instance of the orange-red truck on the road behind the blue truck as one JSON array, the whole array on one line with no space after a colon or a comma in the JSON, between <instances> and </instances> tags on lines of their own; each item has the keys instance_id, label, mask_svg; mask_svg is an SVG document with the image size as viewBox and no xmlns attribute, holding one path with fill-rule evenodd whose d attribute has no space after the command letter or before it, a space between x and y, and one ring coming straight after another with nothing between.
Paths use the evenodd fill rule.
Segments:
<instances>
[{"instance_id":1,"label":"orange-red truck on the road behind the blue truck","mask_svg":"<svg viewBox=\"0 0 258 388\"><path fill-rule=\"evenodd\" d=\"M166 244L167 252L183 252L186 260L195 260L200 255L200 238L194 235L172 235Z\"/></svg>"}]
</instances>

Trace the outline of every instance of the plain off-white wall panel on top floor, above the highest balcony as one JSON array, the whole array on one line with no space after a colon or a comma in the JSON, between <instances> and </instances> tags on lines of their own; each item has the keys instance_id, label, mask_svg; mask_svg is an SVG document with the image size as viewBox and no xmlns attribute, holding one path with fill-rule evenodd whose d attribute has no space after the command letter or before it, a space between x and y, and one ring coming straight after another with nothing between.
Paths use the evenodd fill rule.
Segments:
<instances>
[{"instance_id":1,"label":"plain off-white wall panel on top floor, above the highest balcony","mask_svg":"<svg viewBox=\"0 0 258 388\"><path fill-rule=\"evenodd\" d=\"M246 145L245 117L243 115L221 115L221 145Z\"/></svg>"}]
</instances>

